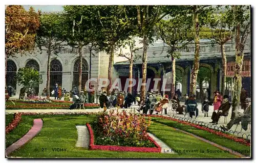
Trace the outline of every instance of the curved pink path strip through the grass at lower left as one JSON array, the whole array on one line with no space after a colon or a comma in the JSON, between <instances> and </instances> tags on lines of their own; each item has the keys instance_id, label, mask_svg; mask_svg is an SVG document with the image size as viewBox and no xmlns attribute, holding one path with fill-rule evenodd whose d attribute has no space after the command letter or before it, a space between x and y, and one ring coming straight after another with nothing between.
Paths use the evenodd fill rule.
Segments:
<instances>
[{"instance_id":1,"label":"curved pink path strip through the grass at lower left","mask_svg":"<svg viewBox=\"0 0 256 163\"><path fill-rule=\"evenodd\" d=\"M6 149L6 157L13 151L19 149L26 143L28 143L31 139L33 139L37 133L40 132L42 128L42 120L41 119L34 119L33 126L31 129L24 135L24 137L20 138L17 142L13 143Z\"/></svg>"}]
</instances>

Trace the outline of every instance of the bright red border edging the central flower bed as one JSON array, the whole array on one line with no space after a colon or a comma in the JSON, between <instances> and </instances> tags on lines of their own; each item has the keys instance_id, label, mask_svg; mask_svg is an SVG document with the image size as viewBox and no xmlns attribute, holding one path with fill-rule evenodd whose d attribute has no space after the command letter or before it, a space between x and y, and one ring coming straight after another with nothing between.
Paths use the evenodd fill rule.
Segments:
<instances>
[{"instance_id":1,"label":"bright red border edging the central flower bed","mask_svg":"<svg viewBox=\"0 0 256 163\"><path fill-rule=\"evenodd\" d=\"M161 147L147 135L148 140L152 141L156 147L125 147L125 146L102 146L94 145L94 134L90 124L86 124L90 133L90 150L107 150L107 151L130 151L130 152L161 152Z\"/></svg>"}]
</instances>

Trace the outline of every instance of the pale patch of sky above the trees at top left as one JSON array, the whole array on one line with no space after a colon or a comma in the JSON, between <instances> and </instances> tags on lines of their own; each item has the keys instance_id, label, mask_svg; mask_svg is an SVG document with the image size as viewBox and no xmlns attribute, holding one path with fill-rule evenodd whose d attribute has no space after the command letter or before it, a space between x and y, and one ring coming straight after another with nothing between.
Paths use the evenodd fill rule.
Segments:
<instances>
[{"instance_id":1,"label":"pale patch of sky above the trees at top left","mask_svg":"<svg viewBox=\"0 0 256 163\"><path fill-rule=\"evenodd\" d=\"M23 5L25 10L29 10L32 6L35 11L40 10L41 12L59 12L63 11L63 5Z\"/></svg>"}]
</instances>

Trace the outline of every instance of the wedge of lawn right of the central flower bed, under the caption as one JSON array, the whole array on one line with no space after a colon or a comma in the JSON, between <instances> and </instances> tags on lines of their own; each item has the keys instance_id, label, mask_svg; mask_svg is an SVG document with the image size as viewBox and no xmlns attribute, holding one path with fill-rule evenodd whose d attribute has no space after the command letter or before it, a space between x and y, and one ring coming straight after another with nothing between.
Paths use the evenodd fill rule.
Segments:
<instances>
[{"instance_id":1,"label":"wedge of lawn right of the central flower bed, under the caption","mask_svg":"<svg viewBox=\"0 0 256 163\"><path fill-rule=\"evenodd\" d=\"M186 158L233 158L236 157L230 153L225 153L209 143L203 142L197 138L187 135L181 131L170 128L167 125L153 122L150 132L162 140L170 148L178 151L177 157ZM203 152L204 151L204 152Z\"/></svg>"}]
</instances>

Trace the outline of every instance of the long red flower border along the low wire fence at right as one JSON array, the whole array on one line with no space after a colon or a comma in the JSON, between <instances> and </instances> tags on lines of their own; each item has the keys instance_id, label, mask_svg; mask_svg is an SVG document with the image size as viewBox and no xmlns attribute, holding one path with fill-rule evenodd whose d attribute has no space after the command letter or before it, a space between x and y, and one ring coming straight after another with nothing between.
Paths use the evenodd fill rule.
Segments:
<instances>
[{"instance_id":1,"label":"long red flower border along the low wire fence at right","mask_svg":"<svg viewBox=\"0 0 256 163\"><path fill-rule=\"evenodd\" d=\"M193 126L193 127L198 128L198 129L202 129L202 130L205 130L205 131L217 134L220 137L224 137L224 138L233 140L234 142L239 142L239 143L244 144L246 146L250 146L250 143L247 142L245 139L237 138L237 137L234 137L234 136L232 136L230 134L226 134L226 133L223 133L221 131L217 131L217 130L214 130L214 129L211 129L211 128L208 128L208 127L204 127L204 126L197 125L197 124L194 124L194 123L190 123L190 122L187 122L187 121L178 120L178 119L175 119L175 118L172 118L172 117L165 117L165 116L160 116L160 115L159 116L151 115L149 117L160 117L160 118L163 118L163 119L168 119L168 120L176 121L176 122L179 122L179 123L182 123L182 124L185 124L185 125Z\"/></svg>"}]
</instances>

